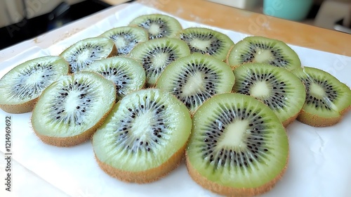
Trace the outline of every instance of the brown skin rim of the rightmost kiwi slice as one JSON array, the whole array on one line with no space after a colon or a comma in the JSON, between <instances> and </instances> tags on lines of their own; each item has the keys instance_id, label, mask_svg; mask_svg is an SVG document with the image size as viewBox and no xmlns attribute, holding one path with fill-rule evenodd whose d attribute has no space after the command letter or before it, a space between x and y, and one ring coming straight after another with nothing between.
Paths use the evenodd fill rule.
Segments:
<instances>
[{"instance_id":1,"label":"brown skin rim of the rightmost kiwi slice","mask_svg":"<svg viewBox=\"0 0 351 197\"><path fill-rule=\"evenodd\" d=\"M303 122L306 125L312 127L329 127L336 125L340 120L343 119L343 116L351 110L351 106L345 108L340 112L338 117L320 117L317 114L308 113L305 110L301 110L300 114L297 117L299 122Z\"/></svg>"}]
</instances>

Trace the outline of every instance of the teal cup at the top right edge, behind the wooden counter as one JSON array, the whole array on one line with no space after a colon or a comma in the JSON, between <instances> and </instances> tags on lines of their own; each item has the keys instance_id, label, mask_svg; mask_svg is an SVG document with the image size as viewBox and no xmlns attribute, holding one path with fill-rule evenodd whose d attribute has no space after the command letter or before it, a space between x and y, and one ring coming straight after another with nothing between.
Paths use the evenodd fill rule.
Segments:
<instances>
[{"instance_id":1,"label":"teal cup at the top right edge, behind the wooden counter","mask_svg":"<svg viewBox=\"0 0 351 197\"><path fill-rule=\"evenodd\" d=\"M304 20L313 0L264 0L263 13L287 20Z\"/></svg>"}]
</instances>

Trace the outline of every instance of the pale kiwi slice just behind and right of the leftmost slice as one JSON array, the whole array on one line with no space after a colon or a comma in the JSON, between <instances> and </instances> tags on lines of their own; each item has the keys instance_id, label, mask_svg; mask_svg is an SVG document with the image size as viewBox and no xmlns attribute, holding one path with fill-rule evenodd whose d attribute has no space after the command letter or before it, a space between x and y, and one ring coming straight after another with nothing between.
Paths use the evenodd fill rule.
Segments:
<instances>
[{"instance_id":1,"label":"pale kiwi slice just behind and right of the leftmost slice","mask_svg":"<svg viewBox=\"0 0 351 197\"><path fill-rule=\"evenodd\" d=\"M116 46L111 39L106 37L90 37L81 39L62 51L60 56L69 63L72 73L79 72L82 68L117 53Z\"/></svg>"}]
</instances>

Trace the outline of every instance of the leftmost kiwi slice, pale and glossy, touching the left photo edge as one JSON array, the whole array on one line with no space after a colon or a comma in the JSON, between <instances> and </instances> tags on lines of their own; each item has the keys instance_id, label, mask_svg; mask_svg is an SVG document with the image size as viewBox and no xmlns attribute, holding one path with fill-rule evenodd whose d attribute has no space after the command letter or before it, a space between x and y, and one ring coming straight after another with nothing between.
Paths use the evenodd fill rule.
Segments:
<instances>
[{"instance_id":1,"label":"leftmost kiwi slice, pale and glossy, touching the left photo edge","mask_svg":"<svg viewBox=\"0 0 351 197\"><path fill-rule=\"evenodd\" d=\"M8 113L27 113L51 83L69 72L59 56L43 56L15 66L1 77L0 108Z\"/></svg>"}]
</instances>

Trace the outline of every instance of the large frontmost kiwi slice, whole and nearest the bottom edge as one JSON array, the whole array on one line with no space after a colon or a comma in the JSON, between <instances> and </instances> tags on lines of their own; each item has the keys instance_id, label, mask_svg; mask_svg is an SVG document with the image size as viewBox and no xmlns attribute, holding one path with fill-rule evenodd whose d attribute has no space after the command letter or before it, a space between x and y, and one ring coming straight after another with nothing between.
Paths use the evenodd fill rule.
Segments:
<instances>
[{"instance_id":1,"label":"large frontmost kiwi slice, whole and nearest the bottom edge","mask_svg":"<svg viewBox=\"0 0 351 197\"><path fill-rule=\"evenodd\" d=\"M193 116L187 170L205 189L225 196L255 196L284 175L289 141L265 104L237 93L209 98Z\"/></svg>"}]
</instances>

